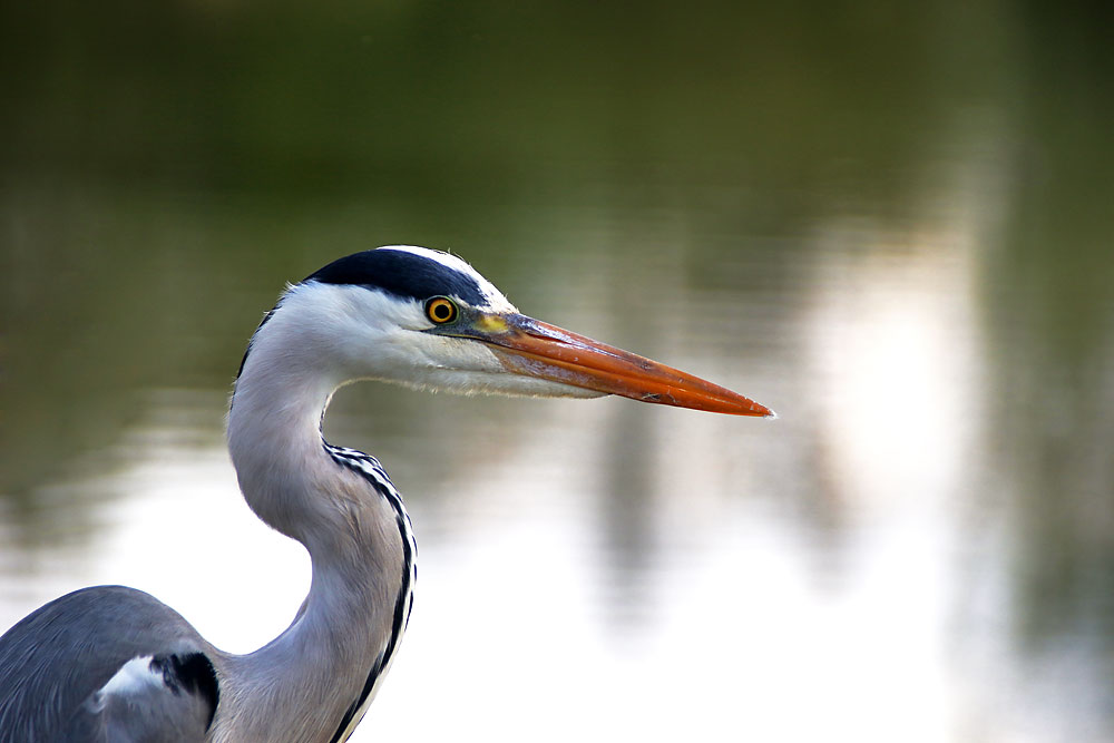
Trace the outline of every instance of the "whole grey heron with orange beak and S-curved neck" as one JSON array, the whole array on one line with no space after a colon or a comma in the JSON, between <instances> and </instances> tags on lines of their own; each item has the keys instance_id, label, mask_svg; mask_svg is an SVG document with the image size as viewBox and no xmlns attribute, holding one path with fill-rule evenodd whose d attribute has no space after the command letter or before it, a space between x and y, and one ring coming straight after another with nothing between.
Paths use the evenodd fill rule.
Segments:
<instances>
[{"instance_id":1,"label":"whole grey heron with orange beak and S-curved neck","mask_svg":"<svg viewBox=\"0 0 1114 743\"><path fill-rule=\"evenodd\" d=\"M289 628L234 655L146 593L68 594L0 637L0 741L346 740L394 661L417 576L410 518L387 472L321 432L334 391L364 379L773 416L519 314L453 255L389 246L334 261L266 313L227 419L248 506L310 554L310 592Z\"/></svg>"}]
</instances>

